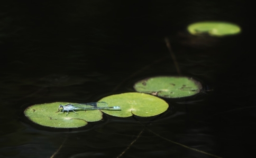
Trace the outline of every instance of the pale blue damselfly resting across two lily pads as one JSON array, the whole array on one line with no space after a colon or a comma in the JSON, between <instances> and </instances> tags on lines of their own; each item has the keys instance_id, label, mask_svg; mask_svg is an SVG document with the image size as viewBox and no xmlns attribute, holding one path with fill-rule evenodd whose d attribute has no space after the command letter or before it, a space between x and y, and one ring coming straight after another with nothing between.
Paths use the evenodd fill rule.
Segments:
<instances>
[{"instance_id":1,"label":"pale blue damselfly resting across two lily pads","mask_svg":"<svg viewBox=\"0 0 256 158\"><path fill-rule=\"evenodd\" d=\"M72 104L67 104L67 105L61 105L58 108L57 112L62 111L62 113L65 113L65 111L68 112L69 111L73 111L74 113L76 113L75 111L82 111L82 110L121 110L120 106L112 106L112 107L107 107L108 104L106 102L92 102L92 103L82 103L82 104L78 104L78 103L72 103ZM76 113L77 114L77 113Z\"/></svg>"}]
</instances>

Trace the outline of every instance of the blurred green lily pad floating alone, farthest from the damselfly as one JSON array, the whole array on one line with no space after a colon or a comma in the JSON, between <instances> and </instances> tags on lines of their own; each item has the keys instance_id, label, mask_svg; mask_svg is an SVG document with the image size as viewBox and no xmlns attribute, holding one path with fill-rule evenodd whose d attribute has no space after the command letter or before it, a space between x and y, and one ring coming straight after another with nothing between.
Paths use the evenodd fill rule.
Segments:
<instances>
[{"instance_id":1,"label":"blurred green lily pad floating alone, farthest from the damselfly","mask_svg":"<svg viewBox=\"0 0 256 158\"><path fill-rule=\"evenodd\" d=\"M226 36L241 32L241 28L238 25L227 22L198 22L190 24L187 29L193 35L207 33L211 36Z\"/></svg>"}]
</instances>

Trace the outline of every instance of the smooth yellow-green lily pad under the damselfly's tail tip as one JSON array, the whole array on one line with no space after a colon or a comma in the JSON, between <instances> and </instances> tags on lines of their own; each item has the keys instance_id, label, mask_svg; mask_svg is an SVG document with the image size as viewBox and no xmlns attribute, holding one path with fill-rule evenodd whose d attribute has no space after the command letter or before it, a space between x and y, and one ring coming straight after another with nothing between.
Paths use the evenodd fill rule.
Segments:
<instances>
[{"instance_id":1,"label":"smooth yellow-green lily pad under the damselfly's tail tip","mask_svg":"<svg viewBox=\"0 0 256 158\"><path fill-rule=\"evenodd\" d=\"M141 117L155 116L167 110L168 104L156 96L143 93L122 93L104 97L100 102L107 102L109 106L120 106L121 111L102 112L117 116L129 117L134 115Z\"/></svg>"}]
</instances>

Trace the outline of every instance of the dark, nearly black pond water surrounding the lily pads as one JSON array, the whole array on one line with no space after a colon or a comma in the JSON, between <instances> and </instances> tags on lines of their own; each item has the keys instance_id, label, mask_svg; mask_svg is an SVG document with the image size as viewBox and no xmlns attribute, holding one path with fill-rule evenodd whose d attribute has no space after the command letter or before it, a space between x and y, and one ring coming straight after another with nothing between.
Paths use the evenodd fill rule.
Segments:
<instances>
[{"instance_id":1,"label":"dark, nearly black pond water surrounding the lily pads","mask_svg":"<svg viewBox=\"0 0 256 158\"><path fill-rule=\"evenodd\" d=\"M246 1L4 3L0 157L255 157L250 15ZM186 26L200 20L231 21L243 32L190 36ZM166 100L168 111L147 121L105 115L88 127L59 130L25 118L29 105L95 102L134 92L143 77L177 75L164 37L182 74L202 81L205 92Z\"/></svg>"}]
</instances>

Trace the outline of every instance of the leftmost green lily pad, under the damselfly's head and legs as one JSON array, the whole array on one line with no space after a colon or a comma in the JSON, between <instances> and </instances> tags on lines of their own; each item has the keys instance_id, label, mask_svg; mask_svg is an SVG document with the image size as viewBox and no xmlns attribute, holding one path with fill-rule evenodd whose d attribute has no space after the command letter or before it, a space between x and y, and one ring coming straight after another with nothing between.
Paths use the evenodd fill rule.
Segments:
<instances>
[{"instance_id":1,"label":"leftmost green lily pad, under the damselfly's head and legs","mask_svg":"<svg viewBox=\"0 0 256 158\"><path fill-rule=\"evenodd\" d=\"M54 102L45 104L36 104L25 109L24 114L32 122L57 128L76 128L87 125L87 122L102 120L102 112L100 110L57 112L59 105L69 104L68 102ZM57 112L57 113L56 113Z\"/></svg>"}]
</instances>

